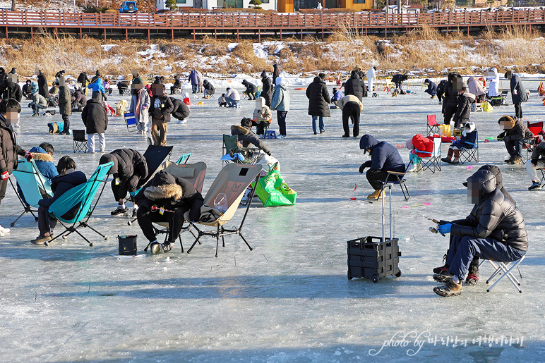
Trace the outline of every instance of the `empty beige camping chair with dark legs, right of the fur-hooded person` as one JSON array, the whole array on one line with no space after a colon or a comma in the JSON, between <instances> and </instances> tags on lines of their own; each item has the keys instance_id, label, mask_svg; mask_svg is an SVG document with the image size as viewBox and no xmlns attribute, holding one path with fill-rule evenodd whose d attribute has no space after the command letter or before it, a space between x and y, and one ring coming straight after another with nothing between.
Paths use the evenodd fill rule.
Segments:
<instances>
[{"instance_id":1,"label":"empty beige camping chair with dark legs, right of the fur-hooded person","mask_svg":"<svg viewBox=\"0 0 545 363\"><path fill-rule=\"evenodd\" d=\"M187 251L187 253L193 250L193 247L195 247L195 245L197 244L197 242L199 242L200 238L203 237L203 235L210 235L212 238L216 238L216 257L217 247L220 243L220 237L222 238L222 245L223 247L225 247L224 236L226 235L239 235L240 238L244 240L244 243L246 243L246 246L248 246L250 251L253 250L252 247L248 245L248 241L246 241L246 238L244 238L244 235L242 235L241 230L242 226L244 225L244 220L246 220L246 216L248 215L248 210L250 209L254 189L251 192L248 205L246 206L246 211L244 212L244 217L242 217L242 221L240 222L239 226L234 227L233 229L226 229L224 228L224 224L229 222L233 218L236 209L239 208L242 197L244 197L244 192L246 191L248 185L250 185L254 180L257 183L262 168L263 167L260 165L242 165L234 163L227 164L222 168L220 173L215 178L214 183L212 183L210 189L206 193L204 204L207 206L213 206L217 195L220 193L224 193L227 196L227 211L225 211L221 216L215 219L215 221L189 221L189 228L195 228L197 230L198 236L195 239L195 242L193 242L193 245L191 245L191 247ZM189 212L186 213L185 218L189 218ZM203 226L215 227L216 229L203 231L197 227L197 225L199 224Z\"/></svg>"}]
</instances>

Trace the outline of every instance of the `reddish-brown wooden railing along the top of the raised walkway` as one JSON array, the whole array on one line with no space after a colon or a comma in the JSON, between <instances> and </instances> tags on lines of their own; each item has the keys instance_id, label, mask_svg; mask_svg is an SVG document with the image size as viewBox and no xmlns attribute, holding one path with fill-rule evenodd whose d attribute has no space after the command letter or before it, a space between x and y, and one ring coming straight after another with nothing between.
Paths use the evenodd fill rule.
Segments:
<instances>
[{"instance_id":1,"label":"reddish-brown wooden railing along the top of the raised walkway","mask_svg":"<svg viewBox=\"0 0 545 363\"><path fill-rule=\"evenodd\" d=\"M121 14L47 13L0 11L0 26L8 27L175 27L175 28L335 28L415 27L429 25L543 25L545 10L468 11L450 13L395 14Z\"/></svg>"}]
</instances>

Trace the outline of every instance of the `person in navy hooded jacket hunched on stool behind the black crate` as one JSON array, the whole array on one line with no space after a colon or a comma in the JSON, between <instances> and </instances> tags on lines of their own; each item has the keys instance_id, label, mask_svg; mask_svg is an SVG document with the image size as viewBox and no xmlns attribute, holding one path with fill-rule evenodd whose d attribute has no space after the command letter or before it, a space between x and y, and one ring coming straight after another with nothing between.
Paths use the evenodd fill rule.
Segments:
<instances>
[{"instance_id":1,"label":"person in navy hooded jacket hunched on stool behind the black crate","mask_svg":"<svg viewBox=\"0 0 545 363\"><path fill-rule=\"evenodd\" d=\"M359 148L364 150L364 154L369 152L369 155L371 155L371 160L364 162L359 167L360 174L364 173L365 168L369 168L366 177L375 190L367 196L367 199L381 198L384 195L382 180L386 180L388 171L403 173L405 172L405 164L403 164L400 153L393 145L385 141L379 142L371 135L361 137Z\"/></svg>"}]
</instances>

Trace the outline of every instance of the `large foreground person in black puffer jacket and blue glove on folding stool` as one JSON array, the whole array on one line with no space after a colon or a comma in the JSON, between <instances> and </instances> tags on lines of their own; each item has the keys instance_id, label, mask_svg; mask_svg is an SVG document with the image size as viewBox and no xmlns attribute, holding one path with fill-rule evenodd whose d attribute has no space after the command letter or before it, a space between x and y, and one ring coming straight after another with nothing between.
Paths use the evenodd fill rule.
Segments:
<instances>
[{"instance_id":1,"label":"large foreground person in black puffer jacket and blue glove on folding stool","mask_svg":"<svg viewBox=\"0 0 545 363\"><path fill-rule=\"evenodd\" d=\"M524 217L498 188L494 174L479 170L464 184L468 201L475 204L474 213L460 224L445 222L438 226L439 233L453 235L446 261L449 268L443 276L445 285L433 288L441 296L462 293L462 281L474 257L513 262L528 250Z\"/></svg>"}]
</instances>

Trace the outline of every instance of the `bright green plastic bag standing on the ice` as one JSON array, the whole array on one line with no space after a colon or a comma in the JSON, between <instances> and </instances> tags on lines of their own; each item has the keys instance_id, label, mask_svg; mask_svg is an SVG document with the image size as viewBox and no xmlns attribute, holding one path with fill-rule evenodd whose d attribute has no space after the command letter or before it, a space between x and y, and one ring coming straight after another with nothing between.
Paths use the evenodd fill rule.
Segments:
<instances>
[{"instance_id":1,"label":"bright green plastic bag standing on the ice","mask_svg":"<svg viewBox=\"0 0 545 363\"><path fill-rule=\"evenodd\" d=\"M287 186L280 172L276 170L276 165L266 176L259 179L256 195L263 203L263 207L293 205L297 199L297 192Z\"/></svg>"}]
</instances>

